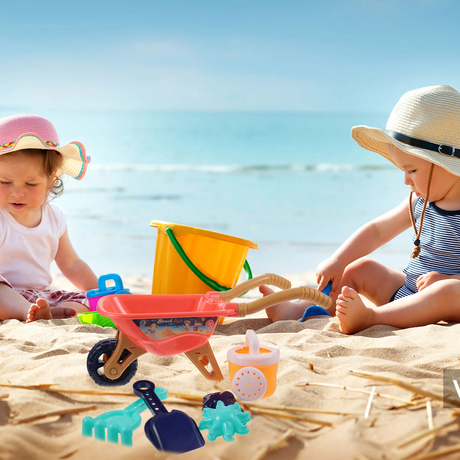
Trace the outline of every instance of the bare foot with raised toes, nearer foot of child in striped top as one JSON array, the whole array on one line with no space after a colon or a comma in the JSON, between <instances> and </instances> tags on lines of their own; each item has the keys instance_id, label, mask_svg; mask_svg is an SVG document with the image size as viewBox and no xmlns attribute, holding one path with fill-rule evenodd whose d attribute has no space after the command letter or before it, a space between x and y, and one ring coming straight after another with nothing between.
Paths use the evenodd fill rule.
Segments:
<instances>
[{"instance_id":1,"label":"bare foot with raised toes, nearer foot of child in striped top","mask_svg":"<svg viewBox=\"0 0 460 460\"><path fill-rule=\"evenodd\" d=\"M355 334L374 325L374 310L367 307L358 293L347 286L337 298L336 314L340 322L340 331L344 334Z\"/></svg>"}]
</instances>

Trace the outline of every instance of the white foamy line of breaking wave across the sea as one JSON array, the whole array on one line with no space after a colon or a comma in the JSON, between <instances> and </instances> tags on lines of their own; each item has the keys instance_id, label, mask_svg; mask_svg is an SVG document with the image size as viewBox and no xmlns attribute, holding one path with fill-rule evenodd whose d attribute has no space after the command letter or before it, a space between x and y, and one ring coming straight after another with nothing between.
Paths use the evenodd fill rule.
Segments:
<instances>
[{"instance_id":1,"label":"white foamy line of breaking wave across the sea","mask_svg":"<svg viewBox=\"0 0 460 460\"><path fill-rule=\"evenodd\" d=\"M268 171L385 171L395 168L391 165L338 165L332 163L320 163L316 165L145 165L145 164L92 164L93 171L123 171L123 172L146 172L146 173L262 173Z\"/></svg>"}]
</instances>

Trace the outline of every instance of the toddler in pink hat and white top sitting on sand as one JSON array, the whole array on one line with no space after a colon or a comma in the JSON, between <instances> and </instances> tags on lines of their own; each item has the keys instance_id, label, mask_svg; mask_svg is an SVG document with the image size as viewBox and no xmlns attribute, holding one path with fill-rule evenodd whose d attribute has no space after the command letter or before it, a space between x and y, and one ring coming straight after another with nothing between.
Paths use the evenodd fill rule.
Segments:
<instances>
[{"instance_id":1,"label":"toddler in pink hat and white top sitting on sand","mask_svg":"<svg viewBox=\"0 0 460 460\"><path fill-rule=\"evenodd\" d=\"M50 201L60 177L83 178L89 163L79 142L61 146L37 115L0 119L0 321L68 318L88 311L98 278L70 243L64 213ZM52 261L81 291L49 289Z\"/></svg>"}]
</instances>

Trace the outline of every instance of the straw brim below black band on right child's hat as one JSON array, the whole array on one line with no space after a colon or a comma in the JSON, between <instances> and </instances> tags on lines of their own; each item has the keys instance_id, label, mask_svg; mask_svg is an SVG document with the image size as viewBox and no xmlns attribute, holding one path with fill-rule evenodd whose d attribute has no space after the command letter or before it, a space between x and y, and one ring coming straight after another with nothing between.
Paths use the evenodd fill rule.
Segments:
<instances>
[{"instance_id":1,"label":"straw brim below black band on right child's hat","mask_svg":"<svg viewBox=\"0 0 460 460\"><path fill-rule=\"evenodd\" d=\"M404 144L403 142L397 141L387 134L383 129L372 128L369 126L354 126L351 128L351 137L357 142L357 144L363 149L376 152L382 155L398 169L398 165L393 161L388 151L386 150L386 144L396 145L398 149L403 150L409 155L418 156L431 163L446 169L450 173L460 176L460 159L449 155L443 155L438 152L431 150L420 149L420 147L414 147L413 145Z\"/></svg>"}]
</instances>

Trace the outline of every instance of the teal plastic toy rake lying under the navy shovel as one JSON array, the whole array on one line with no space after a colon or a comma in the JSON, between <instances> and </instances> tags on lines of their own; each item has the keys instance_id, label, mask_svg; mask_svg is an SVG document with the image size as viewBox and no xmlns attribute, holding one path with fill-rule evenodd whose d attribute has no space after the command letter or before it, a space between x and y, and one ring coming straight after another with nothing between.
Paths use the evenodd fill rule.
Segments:
<instances>
[{"instance_id":1,"label":"teal plastic toy rake lying under the navy shovel","mask_svg":"<svg viewBox=\"0 0 460 460\"><path fill-rule=\"evenodd\" d=\"M168 392L164 388L155 387L155 393L161 401L168 397ZM105 429L107 428L107 441L109 443L118 444L118 435L120 435L121 444L132 446L132 432L141 425L140 414L144 410L147 410L147 406L144 400L139 398L122 410L110 410L94 419L85 417L81 424L81 434L92 437L94 428L94 437L100 441L105 441Z\"/></svg>"}]
</instances>

